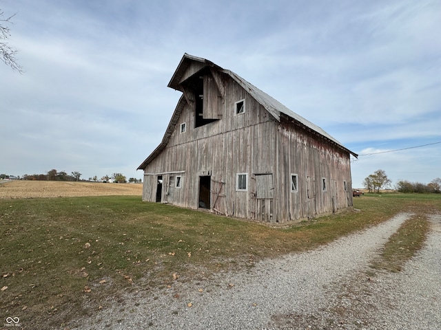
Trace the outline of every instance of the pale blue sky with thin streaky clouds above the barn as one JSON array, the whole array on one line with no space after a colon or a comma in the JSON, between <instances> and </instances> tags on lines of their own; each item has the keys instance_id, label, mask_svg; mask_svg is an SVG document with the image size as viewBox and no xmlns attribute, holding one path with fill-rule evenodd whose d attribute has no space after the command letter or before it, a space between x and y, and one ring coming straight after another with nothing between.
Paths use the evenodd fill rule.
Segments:
<instances>
[{"instance_id":1,"label":"pale blue sky with thin streaky clouds above the barn","mask_svg":"<svg viewBox=\"0 0 441 330\"><path fill-rule=\"evenodd\" d=\"M378 169L393 184L441 177L438 0L0 0L0 11L15 14L8 43L24 70L0 63L0 173L141 178L187 52L360 154L354 187Z\"/></svg>"}]
</instances>

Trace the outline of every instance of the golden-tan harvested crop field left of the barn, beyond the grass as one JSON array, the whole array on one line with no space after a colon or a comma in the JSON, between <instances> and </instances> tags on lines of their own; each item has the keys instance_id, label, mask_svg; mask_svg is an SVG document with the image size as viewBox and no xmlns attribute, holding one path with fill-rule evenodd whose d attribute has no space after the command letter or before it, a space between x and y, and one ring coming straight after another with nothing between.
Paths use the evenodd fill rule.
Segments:
<instances>
[{"instance_id":1,"label":"golden-tan harvested crop field left of the barn, beyond the grass","mask_svg":"<svg viewBox=\"0 0 441 330\"><path fill-rule=\"evenodd\" d=\"M0 199L139 195L142 184L71 181L8 181L0 184Z\"/></svg>"}]
</instances>

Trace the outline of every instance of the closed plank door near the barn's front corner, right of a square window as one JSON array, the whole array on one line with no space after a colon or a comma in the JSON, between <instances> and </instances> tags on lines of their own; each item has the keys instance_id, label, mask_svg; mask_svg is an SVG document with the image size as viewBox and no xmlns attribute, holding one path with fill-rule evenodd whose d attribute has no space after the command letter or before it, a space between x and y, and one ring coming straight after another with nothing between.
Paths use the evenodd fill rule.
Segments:
<instances>
[{"instance_id":1,"label":"closed plank door near the barn's front corner, right of a square window","mask_svg":"<svg viewBox=\"0 0 441 330\"><path fill-rule=\"evenodd\" d=\"M273 175L256 175L256 219L260 221L272 221L273 196Z\"/></svg>"}]
</instances>

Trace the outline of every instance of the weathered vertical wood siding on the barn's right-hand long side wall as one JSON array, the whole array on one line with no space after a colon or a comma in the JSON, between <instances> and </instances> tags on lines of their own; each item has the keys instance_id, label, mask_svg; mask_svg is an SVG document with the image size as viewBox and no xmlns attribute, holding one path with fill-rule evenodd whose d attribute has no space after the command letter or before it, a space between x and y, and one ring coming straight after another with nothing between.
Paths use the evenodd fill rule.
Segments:
<instances>
[{"instance_id":1,"label":"weathered vertical wood siding on the barn's right-hand long side wall","mask_svg":"<svg viewBox=\"0 0 441 330\"><path fill-rule=\"evenodd\" d=\"M289 122L278 127L277 148L276 212L280 219L311 218L352 206L349 154ZM298 175L298 190L294 192L292 173Z\"/></svg>"}]
</instances>

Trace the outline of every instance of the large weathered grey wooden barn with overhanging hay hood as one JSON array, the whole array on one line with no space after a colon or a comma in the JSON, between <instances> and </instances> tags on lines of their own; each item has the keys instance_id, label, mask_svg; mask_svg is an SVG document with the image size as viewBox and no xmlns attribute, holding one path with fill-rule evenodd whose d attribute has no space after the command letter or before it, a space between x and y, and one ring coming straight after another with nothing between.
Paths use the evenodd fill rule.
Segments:
<instances>
[{"instance_id":1,"label":"large weathered grey wooden barn with overhanging hay hood","mask_svg":"<svg viewBox=\"0 0 441 330\"><path fill-rule=\"evenodd\" d=\"M352 206L350 155L234 72L184 54L182 91L144 170L143 200L285 223Z\"/></svg>"}]
</instances>

